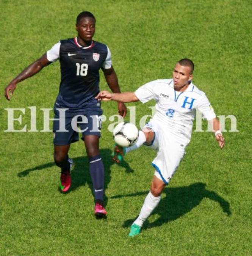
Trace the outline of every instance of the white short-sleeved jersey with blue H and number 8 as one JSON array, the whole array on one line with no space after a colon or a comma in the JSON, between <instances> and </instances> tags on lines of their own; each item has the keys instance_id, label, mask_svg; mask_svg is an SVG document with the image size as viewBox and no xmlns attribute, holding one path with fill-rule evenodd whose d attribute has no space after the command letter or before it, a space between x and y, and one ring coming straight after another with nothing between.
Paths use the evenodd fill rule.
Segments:
<instances>
[{"instance_id":1,"label":"white short-sleeved jersey with blue H and number 8","mask_svg":"<svg viewBox=\"0 0 252 256\"><path fill-rule=\"evenodd\" d=\"M183 146L190 141L196 109L207 120L216 117L205 93L193 83L186 91L179 92L174 90L173 79L155 80L138 88L135 95L142 103L156 101L157 113L153 120Z\"/></svg>"}]
</instances>

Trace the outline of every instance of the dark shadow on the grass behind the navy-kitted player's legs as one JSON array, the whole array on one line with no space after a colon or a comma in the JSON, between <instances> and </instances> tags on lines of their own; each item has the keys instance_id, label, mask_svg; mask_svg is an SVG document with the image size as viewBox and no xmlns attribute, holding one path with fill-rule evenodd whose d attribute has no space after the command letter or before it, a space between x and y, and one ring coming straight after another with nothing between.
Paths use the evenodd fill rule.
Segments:
<instances>
[{"instance_id":1,"label":"dark shadow on the grass behind the navy-kitted player's legs","mask_svg":"<svg viewBox=\"0 0 252 256\"><path fill-rule=\"evenodd\" d=\"M111 152L110 149L100 149L100 155L102 157L104 170L105 170L105 187L104 187L105 192L106 192L106 188L108 187L108 184L110 183L110 180L111 180L110 167L113 164L115 164L115 162L112 161L111 153L112 152ZM74 161L74 168L71 171L72 184L71 184L71 187L70 187L70 189L67 193L71 193L71 191L76 190L78 187L85 186L86 184L88 184L88 186L91 188L92 194L94 195L93 188L92 188L92 180L91 180L91 176L90 176L90 173L89 173L88 157L87 156L82 156L82 157L75 157L75 158L72 158L72 159ZM130 172L134 171L130 168L128 163L125 162L125 161L122 161L122 163L120 163L120 165L125 168L125 171L127 173L130 173ZM53 167L53 166L55 166L56 170L58 170L58 172L60 172L60 169L55 165L54 162L49 162L49 163L45 163L43 165L38 165L38 166L35 166L33 168L24 170L24 171L18 173L17 176L25 177L33 171L42 171L42 170L46 170L47 168L50 168L50 167ZM55 181L55 182L58 184L59 180ZM106 204L107 201L108 201L108 198L105 196L104 197L104 203Z\"/></svg>"}]
</instances>

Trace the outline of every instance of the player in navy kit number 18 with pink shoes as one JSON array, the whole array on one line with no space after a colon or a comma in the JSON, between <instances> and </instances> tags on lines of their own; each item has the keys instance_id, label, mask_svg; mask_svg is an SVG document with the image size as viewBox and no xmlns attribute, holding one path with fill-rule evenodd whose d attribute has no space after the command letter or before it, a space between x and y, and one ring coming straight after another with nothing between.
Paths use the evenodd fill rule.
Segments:
<instances>
[{"instance_id":1,"label":"player in navy kit number 18 with pink shoes","mask_svg":"<svg viewBox=\"0 0 252 256\"><path fill-rule=\"evenodd\" d=\"M104 167L99 152L102 109L100 102L95 99L99 93L99 69L102 69L113 93L120 93L120 88L112 66L110 50L105 44L92 40L95 33L94 15L87 11L80 13L76 20L76 30L77 37L59 41L41 58L17 75L5 88L5 97L10 100L17 83L59 59L61 83L54 105L53 143L54 160L61 168L60 188L66 192L71 185L70 169L73 162L67 153L70 144L78 141L79 127L89 158L95 197L95 215L105 216ZM123 117L127 113L127 108L122 102L118 103L118 112Z\"/></svg>"}]
</instances>

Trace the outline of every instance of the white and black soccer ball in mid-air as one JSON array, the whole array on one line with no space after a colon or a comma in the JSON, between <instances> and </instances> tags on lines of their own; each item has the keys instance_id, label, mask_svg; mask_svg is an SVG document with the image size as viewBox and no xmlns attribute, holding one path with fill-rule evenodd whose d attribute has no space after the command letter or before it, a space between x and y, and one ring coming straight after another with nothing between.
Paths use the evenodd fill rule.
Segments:
<instances>
[{"instance_id":1,"label":"white and black soccer ball in mid-air","mask_svg":"<svg viewBox=\"0 0 252 256\"><path fill-rule=\"evenodd\" d=\"M138 140L138 129L134 124L123 122L114 127L113 135L116 144L121 147L129 147Z\"/></svg>"}]
</instances>

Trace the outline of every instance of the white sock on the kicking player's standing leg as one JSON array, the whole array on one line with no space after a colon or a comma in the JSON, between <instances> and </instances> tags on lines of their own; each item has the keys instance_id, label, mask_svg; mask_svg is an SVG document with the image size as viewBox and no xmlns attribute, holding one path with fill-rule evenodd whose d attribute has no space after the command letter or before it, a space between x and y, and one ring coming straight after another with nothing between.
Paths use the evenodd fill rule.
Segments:
<instances>
[{"instance_id":1,"label":"white sock on the kicking player's standing leg","mask_svg":"<svg viewBox=\"0 0 252 256\"><path fill-rule=\"evenodd\" d=\"M161 195L155 197L152 195L151 192L149 192L149 194L146 196L144 200L144 204L142 206L140 214L133 224L136 224L142 227L142 225L144 224L144 221L150 216L152 211L157 207L158 203L160 202L160 199L161 199Z\"/></svg>"}]
</instances>

